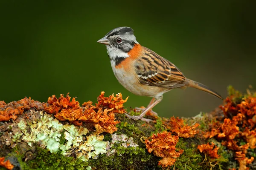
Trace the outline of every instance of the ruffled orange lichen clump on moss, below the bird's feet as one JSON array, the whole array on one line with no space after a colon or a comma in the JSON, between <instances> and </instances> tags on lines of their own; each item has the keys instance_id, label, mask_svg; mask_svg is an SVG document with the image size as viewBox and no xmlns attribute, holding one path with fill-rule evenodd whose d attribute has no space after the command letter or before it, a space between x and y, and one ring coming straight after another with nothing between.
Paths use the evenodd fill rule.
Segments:
<instances>
[{"instance_id":1,"label":"ruffled orange lichen clump on moss, below the bird's feet","mask_svg":"<svg viewBox=\"0 0 256 170\"><path fill-rule=\"evenodd\" d=\"M151 141L145 141L146 148L149 153L153 152L155 156L162 158L158 162L158 165L162 165L162 167L173 165L176 158L183 153L183 150L175 148L179 137L172 135L170 132L153 134L150 139Z\"/></svg>"}]
</instances>

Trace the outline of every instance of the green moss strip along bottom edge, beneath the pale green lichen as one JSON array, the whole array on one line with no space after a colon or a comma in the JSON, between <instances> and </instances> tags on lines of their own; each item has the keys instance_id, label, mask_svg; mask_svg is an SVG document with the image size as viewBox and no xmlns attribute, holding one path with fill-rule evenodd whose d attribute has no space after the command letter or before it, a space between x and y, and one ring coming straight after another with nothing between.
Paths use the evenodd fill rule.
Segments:
<instances>
[{"instance_id":1,"label":"green moss strip along bottom edge, beneath the pale green lichen","mask_svg":"<svg viewBox=\"0 0 256 170\"><path fill-rule=\"evenodd\" d=\"M24 155L17 154L18 149L14 149L9 156L18 159L23 170L84 170L91 166L93 170L147 170L157 168L159 158L148 154L145 148L122 147L116 144L116 153L112 156L100 154L96 160L89 159L89 162L79 158L61 155L61 152L50 153L47 149L38 147L35 158L24 162ZM90 168L89 168L90 169Z\"/></svg>"}]
</instances>

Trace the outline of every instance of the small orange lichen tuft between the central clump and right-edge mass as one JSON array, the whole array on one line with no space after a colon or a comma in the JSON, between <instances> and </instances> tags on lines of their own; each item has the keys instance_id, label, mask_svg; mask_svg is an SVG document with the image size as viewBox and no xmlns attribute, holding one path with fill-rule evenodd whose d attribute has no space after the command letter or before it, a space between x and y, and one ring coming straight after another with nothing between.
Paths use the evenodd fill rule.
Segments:
<instances>
[{"instance_id":1,"label":"small orange lichen tuft between the central clump and right-edge mass","mask_svg":"<svg viewBox=\"0 0 256 170\"><path fill-rule=\"evenodd\" d=\"M209 143L198 145L198 150L201 153L206 154L210 158L219 158L220 157L218 155L218 149L219 149L219 147L216 147L216 145L214 143L212 143L211 145Z\"/></svg>"}]
</instances>

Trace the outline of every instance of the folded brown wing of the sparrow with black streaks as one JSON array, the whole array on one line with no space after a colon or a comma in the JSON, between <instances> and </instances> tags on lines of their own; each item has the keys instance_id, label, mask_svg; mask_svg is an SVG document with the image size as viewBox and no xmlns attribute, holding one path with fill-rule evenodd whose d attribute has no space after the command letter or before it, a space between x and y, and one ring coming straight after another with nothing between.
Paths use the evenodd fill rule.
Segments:
<instances>
[{"instance_id":1,"label":"folded brown wing of the sparrow with black streaks","mask_svg":"<svg viewBox=\"0 0 256 170\"><path fill-rule=\"evenodd\" d=\"M170 61L145 48L144 56L137 59L136 73L140 83L164 88L178 88L185 86L185 76Z\"/></svg>"}]
</instances>

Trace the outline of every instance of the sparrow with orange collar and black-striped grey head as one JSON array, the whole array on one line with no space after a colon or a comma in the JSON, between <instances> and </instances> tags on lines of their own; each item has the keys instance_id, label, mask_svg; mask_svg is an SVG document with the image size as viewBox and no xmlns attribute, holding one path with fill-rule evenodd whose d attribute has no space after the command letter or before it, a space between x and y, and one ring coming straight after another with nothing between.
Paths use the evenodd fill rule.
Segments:
<instances>
[{"instance_id":1,"label":"sparrow with orange collar and black-striped grey head","mask_svg":"<svg viewBox=\"0 0 256 170\"><path fill-rule=\"evenodd\" d=\"M130 27L111 30L97 43L105 44L114 75L122 86L135 95L151 97L138 116L126 114L134 120L151 121L143 116L172 89L193 87L223 99L209 87L186 78L173 63L151 49L141 46Z\"/></svg>"}]
</instances>

